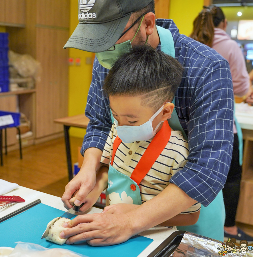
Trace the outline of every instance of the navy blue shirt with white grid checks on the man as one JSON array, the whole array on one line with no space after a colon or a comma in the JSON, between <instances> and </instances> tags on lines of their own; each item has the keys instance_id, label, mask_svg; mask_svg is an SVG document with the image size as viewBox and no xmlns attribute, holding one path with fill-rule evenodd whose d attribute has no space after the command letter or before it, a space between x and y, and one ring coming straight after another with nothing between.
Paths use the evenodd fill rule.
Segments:
<instances>
[{"instance_id":1,"label":"navy blue shirt with white grid checks on the man","mask_svg":"<svg viewBox=\"0 0 253 257\"><path fill-rule=\"evenodd\" d=\"M188 135L190 154L170 182L207 206L224 187L232 156L234 95L229 64L215 50L179 34L172 20L157 19L156 24L172 33L176 59L185 68L175 108ZM109 99L102 93L107 73L95 58L82 154L90 147L103 150L111 129Z\"/></svg>"}]
</instances>

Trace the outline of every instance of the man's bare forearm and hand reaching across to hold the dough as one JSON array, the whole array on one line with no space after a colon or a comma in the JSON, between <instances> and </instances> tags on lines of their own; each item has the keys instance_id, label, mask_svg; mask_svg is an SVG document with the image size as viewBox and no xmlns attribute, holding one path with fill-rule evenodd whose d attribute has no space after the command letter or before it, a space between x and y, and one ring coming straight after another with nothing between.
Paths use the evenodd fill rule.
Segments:
<instances>
[{"instance_id":1,"label":"man's bare forearm and hand reaching across to hold the dough","mask_svg":"<svg viewBox=\"0 0 253 257\"><path fill-rule=\"evenodd\" d=\"M168 195L171 197L168 204ZM66 222L69 229L61 232L66 244L87 241L91 245L111 245L125 242L131 236L159 225L196 203L183 190L169 184L160 194L126 214L85 214ZM184 215L184 214L181 214Z\"/></svg>"}]
</instances>

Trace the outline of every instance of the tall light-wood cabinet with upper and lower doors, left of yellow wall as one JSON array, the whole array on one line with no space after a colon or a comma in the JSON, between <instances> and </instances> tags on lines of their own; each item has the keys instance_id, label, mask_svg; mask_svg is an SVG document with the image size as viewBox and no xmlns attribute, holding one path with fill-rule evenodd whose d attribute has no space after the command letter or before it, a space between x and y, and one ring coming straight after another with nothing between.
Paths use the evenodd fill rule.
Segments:
<instances>
[{"instance_id":1,"label":"tall light-wood cabinet with upper and lower doors, left of yellow wall","mask_svg":"<svg viewBox=\"0 0 253 257\"><path fill-rule=\"evenodd\" d=\"M68 49L63 46L69 39L69 0L25 0L24 6L25 27L6 27L6 32L10 49L30 54L41 64L36 98L19 97L25 114L33 119L35 143L39 143L62 136L63 126L53 120L68 115Z\"/></svg>"}]
</instances>

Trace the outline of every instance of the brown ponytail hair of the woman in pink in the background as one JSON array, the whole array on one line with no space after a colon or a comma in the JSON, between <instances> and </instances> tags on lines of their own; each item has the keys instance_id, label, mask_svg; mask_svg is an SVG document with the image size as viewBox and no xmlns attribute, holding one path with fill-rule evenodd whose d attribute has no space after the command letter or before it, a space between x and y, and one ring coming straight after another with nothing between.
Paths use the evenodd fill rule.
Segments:
<instances>
[{"instance_id":1,"label":"brown ponytail hair of the woman in pink in the background","mask_svg":"<svg viewBox=\"0 0 253 257\"><path fill-rule=\"evenodd\" d=\"M225 21L225 15L222 9L215 5L204 6L203 8L193 22L193 31L190 37L212 47L214 28Z\"/></svg>"}]
</instances>

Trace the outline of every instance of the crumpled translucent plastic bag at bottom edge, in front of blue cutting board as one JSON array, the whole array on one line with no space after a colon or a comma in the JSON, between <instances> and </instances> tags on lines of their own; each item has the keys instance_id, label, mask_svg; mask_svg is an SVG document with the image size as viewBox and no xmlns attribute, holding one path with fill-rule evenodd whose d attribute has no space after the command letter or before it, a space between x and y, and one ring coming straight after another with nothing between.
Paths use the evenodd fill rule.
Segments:
<instances>
[{"instance_id":1,"label":"crumpled translucent plastic bag at bottom edge, in front of blue cutting board","mask_svg":"<svg viewBox=\"0 0 253 257\"><path fill-rule=\"evenodd\" d=\"M87 257L61 248L45 248L39 244L17 242L9 257Z\"/></svg>"}]
</instances>

